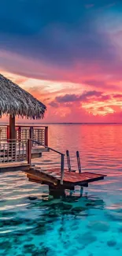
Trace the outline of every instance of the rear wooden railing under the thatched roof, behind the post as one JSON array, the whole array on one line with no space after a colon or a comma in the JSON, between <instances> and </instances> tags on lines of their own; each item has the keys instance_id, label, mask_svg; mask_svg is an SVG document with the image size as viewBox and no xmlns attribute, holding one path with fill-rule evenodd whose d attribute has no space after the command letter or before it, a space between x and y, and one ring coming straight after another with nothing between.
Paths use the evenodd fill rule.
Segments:
<instances>
[{"instance_id":1,"label":"rear wooden railing under the thatched roof, behind the post","mask_svg":"<svg viewBox=\"0 0 122 256\"><path fill-rule=\"evenodd\" d=\"M9 139L9 126L0 126L0 140ZM47 126L16 126L16 139L33 139L42 145L48 146L48 127Z\"/></svg>"}]
</instances>

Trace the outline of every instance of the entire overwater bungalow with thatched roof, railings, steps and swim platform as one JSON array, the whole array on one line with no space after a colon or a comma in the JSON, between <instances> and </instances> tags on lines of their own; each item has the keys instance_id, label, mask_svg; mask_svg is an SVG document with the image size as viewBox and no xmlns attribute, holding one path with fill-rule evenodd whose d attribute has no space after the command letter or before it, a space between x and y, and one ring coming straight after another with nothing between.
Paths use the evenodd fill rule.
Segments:
<instances>
[{"instance_id":1,"label":"entire overwater bungalow with thatched roof, railings, steps and swim platform","mask_svg":"<svg viewBox=\"0 0 122 256\"><path fill-rule=\"evenodd\" d=\"M21 170L30 181L48 184L54 190L87 187L90 182L103 180L104 175L72 172L65 169L65 154L48 146L48 127L16 125L16 117L39 120L44 117L46 106L16 83L0 75L0 117L9 115L9 124L0 126L0 172ZM31 166L31 158L40 158L43 151L53 150L61 156L57 169L43 170ZM69 159L68 159L69 160Z\"/></svg>"}]
</instances>

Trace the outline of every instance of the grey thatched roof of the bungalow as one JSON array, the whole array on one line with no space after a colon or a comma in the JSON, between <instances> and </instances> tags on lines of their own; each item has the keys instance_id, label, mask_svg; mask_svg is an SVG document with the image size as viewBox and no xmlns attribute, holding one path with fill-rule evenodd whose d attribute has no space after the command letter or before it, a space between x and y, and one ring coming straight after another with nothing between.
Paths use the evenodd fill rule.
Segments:
<instances>
[{"instance_id":1,"label":"grey thatched roof of the bungalow","mask_svg":"<svg viewBox=\"0 0 122 256\"><path fill-rule=\"evenodd\" d=\"M6 113L40 119L45 110L42 102L0 74L0 117Z\"/></svg>"}]
</instances>

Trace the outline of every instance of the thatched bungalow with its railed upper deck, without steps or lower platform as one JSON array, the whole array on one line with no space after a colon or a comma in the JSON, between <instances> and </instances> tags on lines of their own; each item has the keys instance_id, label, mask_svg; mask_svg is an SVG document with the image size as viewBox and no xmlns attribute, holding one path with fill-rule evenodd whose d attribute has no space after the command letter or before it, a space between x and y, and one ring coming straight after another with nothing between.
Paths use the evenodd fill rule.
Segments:
<instances>
[{"instance_id":1,"label":"thatched bungalow with its railed upper deck, without steps or lower platform","mask_svg":"<svg viewBox=\"0 0 122 256\"><path fill-rule=\"evenodd\" d=\"M0 75L0 117L9 115L9 124L0 125L0 163L25 161L28 159L28 139L33 139L35 147L31 149L31 157L41 156L48 146L48 127L25 124L16 125L16 117L38 120L44 117L46 106L39 102L16 83ZM32 143L34 146L34 143Z\"/></svg>"}]
</instances>

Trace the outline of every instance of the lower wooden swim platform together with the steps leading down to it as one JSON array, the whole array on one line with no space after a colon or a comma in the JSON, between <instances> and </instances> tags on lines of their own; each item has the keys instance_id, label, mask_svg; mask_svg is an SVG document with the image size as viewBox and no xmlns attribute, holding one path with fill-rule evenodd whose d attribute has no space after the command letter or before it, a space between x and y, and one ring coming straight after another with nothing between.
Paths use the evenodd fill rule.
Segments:
<instances>
[{"instance_id":1,"label":"lower wooden swim platform together with the steps leading down to it","mask_svg":"<svg viewBox=\"0 0 122 256\"><path fill-rule=\"evenodd\" d=\"M88 187L89 183L103 180L105 177L105 175L99 173L69 173L68 170L65 169L63 185L61 185L61 170L59 168L42 170L36 168L35 166L35 169L28 170L26 173L30 181L41 184L48 184L50 187L65 188L75 187L76 185Z\"/></svg>"}]
</instances>

